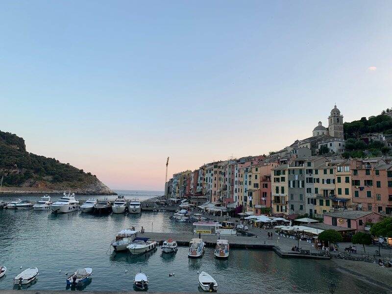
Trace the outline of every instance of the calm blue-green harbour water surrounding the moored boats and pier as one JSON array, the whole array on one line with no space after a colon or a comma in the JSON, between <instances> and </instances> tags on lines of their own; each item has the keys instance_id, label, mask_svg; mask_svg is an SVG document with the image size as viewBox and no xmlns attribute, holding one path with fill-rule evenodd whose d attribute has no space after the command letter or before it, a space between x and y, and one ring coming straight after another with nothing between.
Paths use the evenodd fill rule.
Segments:
<instances>
[{"instance_id":1,"label":"calm blue-green harbour water surrounding the moored boats and pier","mask_svg":"<svg viewBox=\"0 0 392 294\"><path fill-rule=\"evenodd\" d=\"M148 191L118 193L141 200L162 195ZM0 196L9 197L15 196ZM31 195L18 197L37 199ZM142 270L149 276L149 291L197 292L197 271L204 270L217 280L218 292L328 293L328 284L333 282L337 293L383 293L338 272L328 261L282 259L272 251L231 249L229 259L220 261L213 258L213 248L206 248L201 259L189 259L186 247L180 247L175 255L162 255L158 249L139 257L114 254L110 249L116 233L131 226L144 226L146 231L155 232L191 232L192 224L174 222L170 215L145 212L98 217L79 212L55 215L0 209L0 265L8 269L7 275L0 278L0 289L12 289L12 279L21 272L21 266L36 266L40 274L28 287L31 290L66 289L66 272L91 267L93 278L84 291L132 290L133 275ZM174 273L174 277L169 277L169 273Z\"/></svg>"}]
</instances>

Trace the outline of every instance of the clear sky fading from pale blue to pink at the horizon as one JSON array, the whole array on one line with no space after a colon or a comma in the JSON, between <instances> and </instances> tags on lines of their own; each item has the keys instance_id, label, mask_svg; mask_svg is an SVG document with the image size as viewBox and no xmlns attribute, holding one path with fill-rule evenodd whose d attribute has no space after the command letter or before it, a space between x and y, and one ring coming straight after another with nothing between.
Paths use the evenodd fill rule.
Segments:
<instances>
[{"instance_id":1,"label":"clear sky fading from pale blue to pink at the horizon","mask_svg":"<svg viewBox=\"0 0 392 294\"><path fill-rule=\"evenodd\" d=\"M392 108L392 1L1 1L0 130L112 189Z\"/></svg>"}]
</instances>

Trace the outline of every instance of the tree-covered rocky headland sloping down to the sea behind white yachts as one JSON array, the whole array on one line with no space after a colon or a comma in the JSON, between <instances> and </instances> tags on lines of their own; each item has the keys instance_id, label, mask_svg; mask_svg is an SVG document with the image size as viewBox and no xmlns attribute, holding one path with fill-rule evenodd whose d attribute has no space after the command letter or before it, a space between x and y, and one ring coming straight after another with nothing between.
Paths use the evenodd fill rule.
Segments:
<instances>
[{"instance_id":1,"label":"tree-covered rocky headland sloping down to the sea behind white yachts","mask_svg":"<svg viewBox=\"0 0 392 294\"><path fill-rule=\"evenodd\" d=\"M25 140L0 131L0 179L2 192L114 194L96 175L79 170L55 158L26 151Z\"/></svg>"}]
</instances>

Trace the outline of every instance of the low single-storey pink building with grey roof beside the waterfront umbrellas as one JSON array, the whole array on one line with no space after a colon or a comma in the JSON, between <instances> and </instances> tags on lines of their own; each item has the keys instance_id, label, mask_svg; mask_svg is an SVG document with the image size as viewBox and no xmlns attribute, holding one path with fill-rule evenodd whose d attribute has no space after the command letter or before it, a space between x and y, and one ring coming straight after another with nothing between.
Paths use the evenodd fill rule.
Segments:
<instances>
[{"instance_id":1,"label":"low single-storey pink building with grey roof beside the waterfront umbrellas","mask_svg":"<svg viewBox=\"0 0 392 294\"><path fill-rule=\"evenodd\" d=\"M324 214L325 224L351 228L355 232L364 232L367 222L376 223L381 220L381 215L371 211L343 210Z\"/></svg>"}]
</instances>

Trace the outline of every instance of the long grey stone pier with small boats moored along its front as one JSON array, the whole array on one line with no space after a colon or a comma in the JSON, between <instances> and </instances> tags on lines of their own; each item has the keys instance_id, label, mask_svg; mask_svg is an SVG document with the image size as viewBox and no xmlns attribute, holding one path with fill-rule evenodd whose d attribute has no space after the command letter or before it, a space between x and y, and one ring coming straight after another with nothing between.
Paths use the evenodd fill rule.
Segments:
<instances>
[{"instance_id":1,"label":"long grey stone pier with small boats moored along its front","mask_svg":"<svg viewBox=\"0 0 392 294\"><path fill-rule=\"evenodd\" d=\"M198 238L196 234L180 234L180 233L149 233L146 232L144 234L139 234L139 237L150 238L151 240L157 241L160 245L168 239L173 239L180 246L189 246L189 241L192 238ZM201 239L203 239L206 247L215 247L217 244L218 236L217 235L201 235ZM317 253L313 254L299 254L298 252L288 251L285 248L266 244L266 241L263 238L257 237L245 237L245 236L230 236L230 235L221 235L221 239L225 239L229 241L231 248L242 248L242 249L261 249L261 250L273 250L280 257L289 257L289 258L304 258L304 259L319 259L319 260L329 260L329 256L319 255Z\"/></svg>"}]
</instances>

